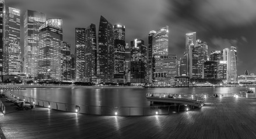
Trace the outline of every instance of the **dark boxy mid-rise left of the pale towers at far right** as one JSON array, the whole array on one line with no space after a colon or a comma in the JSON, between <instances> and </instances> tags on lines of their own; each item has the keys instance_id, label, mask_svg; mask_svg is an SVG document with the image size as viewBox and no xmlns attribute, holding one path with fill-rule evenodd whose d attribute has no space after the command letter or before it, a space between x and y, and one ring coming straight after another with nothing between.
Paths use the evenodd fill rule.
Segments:
<instances>
[{"instance_id":1,"label":"dark boxy mid-rise left of the pale towers at far right","mask_svg":"<svg viewBox=\"0 0 256 139\"><path fill-rule=\"evenodd\" d=\"M204 62L204 79L217 79L217 67L218 62L216 61L205 61Z\"/></svg>"}]
</instances>

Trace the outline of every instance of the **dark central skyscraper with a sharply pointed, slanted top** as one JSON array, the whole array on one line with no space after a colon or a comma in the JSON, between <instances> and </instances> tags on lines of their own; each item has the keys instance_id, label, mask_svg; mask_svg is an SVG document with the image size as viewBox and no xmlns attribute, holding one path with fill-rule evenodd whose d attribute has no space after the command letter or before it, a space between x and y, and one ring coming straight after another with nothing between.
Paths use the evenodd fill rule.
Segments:
<instances>
[{"instance_id":1,"label":"dark central skyscraper with a sharply pointed, slanted top","mask_svg":"<svg viewBox=\"0 0 256 139\"><path fill-rule=\"evenodd\" d=\"M100 16L99 24L99 82L114 82L114 36L113 25L103 16Z\"/></svg>"}]
</instances>

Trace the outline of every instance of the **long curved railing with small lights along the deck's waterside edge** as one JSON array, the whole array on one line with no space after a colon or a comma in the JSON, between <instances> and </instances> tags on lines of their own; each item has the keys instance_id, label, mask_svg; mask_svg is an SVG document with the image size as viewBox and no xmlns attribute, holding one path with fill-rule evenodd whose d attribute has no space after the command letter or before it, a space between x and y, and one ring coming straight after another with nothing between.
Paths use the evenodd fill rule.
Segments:
<instances>
[{"instance_id":1,"label":"long curved railing with small lights along the deck's waterside edge","mask_svg":"<svg viewBox=\"0 0 256 139\"><path fill-rule=\"evenodd\" d=\"M19 101L39 105L45 108L57 109L66 112L77 112L80 114L92 115L117 115L117 116L146 116L146 115L167 115L177 112L190 111L192 107L187 104L164 105L149 107L106 107L93 105L66 104L52 101L45 101L36 98L26 97L11 93Z\"/></svg>"}]
</instances>

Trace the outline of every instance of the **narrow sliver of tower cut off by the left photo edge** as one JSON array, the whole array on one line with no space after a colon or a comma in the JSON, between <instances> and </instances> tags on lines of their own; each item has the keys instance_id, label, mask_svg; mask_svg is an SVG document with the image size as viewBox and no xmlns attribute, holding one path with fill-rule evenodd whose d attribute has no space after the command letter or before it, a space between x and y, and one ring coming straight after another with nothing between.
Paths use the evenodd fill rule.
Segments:
<instances>
[{"instance_id":1,"label":"narrow sliver of tower cut off by the left photo edge","mask_svg":"<svg viewBox=\"0 0 256 139\"><path fill-rule=\"evenodd\" d=\"M3 70L3 53L6 50L3 50L5 43L5 1L0 0L0 75L5 74Z\"/></svg>"}]
</instances>

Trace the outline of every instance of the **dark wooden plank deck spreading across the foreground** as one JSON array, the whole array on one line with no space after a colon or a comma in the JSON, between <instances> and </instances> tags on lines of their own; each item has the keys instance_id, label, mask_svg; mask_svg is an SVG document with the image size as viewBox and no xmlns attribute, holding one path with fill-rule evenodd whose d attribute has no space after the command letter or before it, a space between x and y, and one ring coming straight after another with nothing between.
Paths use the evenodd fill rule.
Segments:
<instances>
[{"instance_id":1,"label":"dark wooden plank deck spreading across the foreground","mask_svg":"<svg viewBox=\"0 0 256 139\"><path fill-rule=\"evenodd\" d=\"M17 111L10 103L5 106L0 127L6 138L256 138L256 99L251 98L210 97L202 108L157 116L96 116L41 107Z\"/></svg>"}]
</instances>

